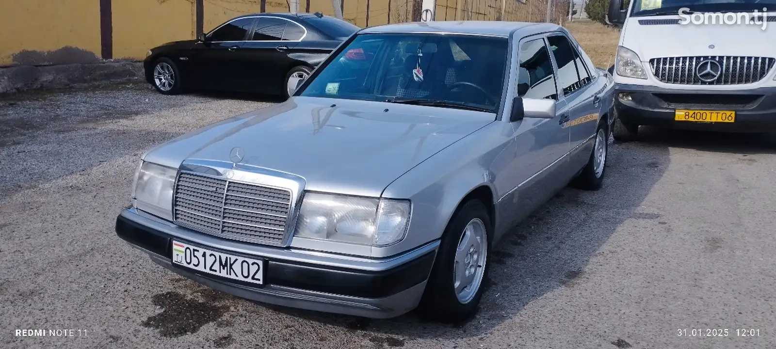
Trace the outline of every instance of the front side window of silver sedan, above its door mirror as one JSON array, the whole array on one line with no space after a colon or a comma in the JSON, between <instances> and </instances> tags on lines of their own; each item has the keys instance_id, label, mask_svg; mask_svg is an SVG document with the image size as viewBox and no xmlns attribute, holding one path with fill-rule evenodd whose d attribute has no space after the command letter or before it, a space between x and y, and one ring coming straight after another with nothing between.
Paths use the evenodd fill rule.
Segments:
<instances>
[{"instance_id":1,"label":"front side window of silver sedan, above its door mirror","mask_svg":"<svg viewBox=\"0 0 776 349\"><path fill-rule=\"evenodd\" d=\"M518 97L558 99L553 62L544 39L520 44Z\"/></svg>"}]
</instances>

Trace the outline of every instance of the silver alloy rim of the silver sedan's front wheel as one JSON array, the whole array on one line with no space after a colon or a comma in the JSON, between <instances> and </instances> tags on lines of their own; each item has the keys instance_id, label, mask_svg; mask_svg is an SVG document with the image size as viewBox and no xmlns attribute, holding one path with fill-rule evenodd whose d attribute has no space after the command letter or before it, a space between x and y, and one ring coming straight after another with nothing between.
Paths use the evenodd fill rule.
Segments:
<instances>
[{"instance_id":1,"label":"silver alloy rim of the silver sedan's front wheel","mask_svg":"<svg viewBox=\"0 0 776 349\"><path fill-rule=\"evenodd\" d=\"M482 220L475 218L466 228L456 249L456 263L453 268L456 297L461 304L474 299L485 275L487 261L487 233Z\"/></svg>"}]
</instances>

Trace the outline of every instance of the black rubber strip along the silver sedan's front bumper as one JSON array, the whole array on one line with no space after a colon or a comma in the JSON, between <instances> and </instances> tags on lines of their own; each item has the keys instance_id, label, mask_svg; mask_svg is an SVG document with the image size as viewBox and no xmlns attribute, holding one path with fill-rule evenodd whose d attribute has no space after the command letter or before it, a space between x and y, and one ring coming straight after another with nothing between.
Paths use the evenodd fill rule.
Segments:
<instances>
[{"instance_id":1,"label":"black rubber strip along the silver sedan's front bumper","mask_svg":"<svg viewBox=\"0 0 776 349\"><path fill-rule=\"evenodd\" d=\"M171 236L126 219L116 218L116 235L130 244L171 258ZM178 239L176 240L182 240ZM217 248L207 247L213 251ZM234 252L224 251L227 254ZM314 292L326 292L336 295L346 295L359 298L383 298L409 289L424 282L434 264L435 251L430 251L420 257L400 264L386 271L362 271L347 268L322 267L317 264L283 261L262 256L248 256L264 259L266 264L265 285L278 285L304 289ZM239 254L238 254L239 255ZM192 272L189 269L186 271ZM213 280L234 283L216 275L202 274Z\"/></svg>"}]
</instances>

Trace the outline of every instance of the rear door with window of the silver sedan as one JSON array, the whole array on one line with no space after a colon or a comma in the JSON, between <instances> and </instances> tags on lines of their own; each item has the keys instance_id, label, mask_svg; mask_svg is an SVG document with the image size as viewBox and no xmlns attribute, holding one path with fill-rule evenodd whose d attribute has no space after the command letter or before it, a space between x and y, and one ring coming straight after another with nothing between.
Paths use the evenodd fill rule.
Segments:
<instances>
[{"instance_id":1,"label":"rear door with window of the silver sedan","mask_svg":"<svg viewBox=\"0 0 776 349\"><path fill-rule=\"evenodd\" d=\"M547 41L559 71L563 100L568 105L568 120L563 123L563 127L570 134L570 167L581 168L591 154L591 136L598 128L598 113L601 109L601 97L598 96L598 88L595 88L595 82L598 81L593 81L593 67L587 67L566 35L552 34L547 36Z\"/></svg>"}]
</instances>

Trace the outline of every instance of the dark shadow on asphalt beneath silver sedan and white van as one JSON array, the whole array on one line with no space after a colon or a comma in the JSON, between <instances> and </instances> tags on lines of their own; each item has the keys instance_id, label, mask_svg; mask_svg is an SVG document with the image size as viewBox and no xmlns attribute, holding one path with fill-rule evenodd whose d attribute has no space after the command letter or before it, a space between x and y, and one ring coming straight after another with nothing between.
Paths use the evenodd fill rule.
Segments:
<instances>
[{"instance_id":1,"label":"dark shadow on asphalt beneath silver sedan and white van","mask_svg":"<svg viewBox=\"0 0 776 349\"><path fill-rule=\"evenodd\" d=\"M583 192L566 188L512 230L492 251L490 280L480 312L466 324L424 323L414 313L390 320L269 309L348 330L363 330L376 344L402 346L397 337L440 340L482 337L514 319L533 300L585 282L585 267L618 226L628 219L658 223L660 215L639 212L670 164L669 148L726 153L773 152L770 136L695 133L647 129L634 143L610 143L605 188ZM466 325L466 326L463 326ZM393 344L393 345L392 345Z\"/></svg>"}]
</instances>

